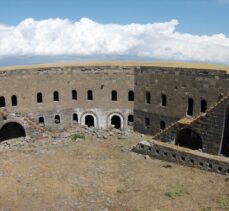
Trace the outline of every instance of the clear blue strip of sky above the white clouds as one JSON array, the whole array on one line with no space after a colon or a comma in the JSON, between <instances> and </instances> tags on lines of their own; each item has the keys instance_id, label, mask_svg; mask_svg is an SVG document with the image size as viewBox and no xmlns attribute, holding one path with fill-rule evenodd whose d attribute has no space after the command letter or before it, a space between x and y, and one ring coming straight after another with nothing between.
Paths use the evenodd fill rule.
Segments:
<instances>
[{"instance_id":1,"label":"clear blue strip of sky above the white clouds","mask_svg":"<svg viewBox=\"0 0 229 211\"><path fill-rule=\"evenodd\" d=\"M229 0L7 0L1 23L34 19L90 18L100 23L153 23L179 20L179 31L229 35Z\"/></svg>"}]
</instances>

